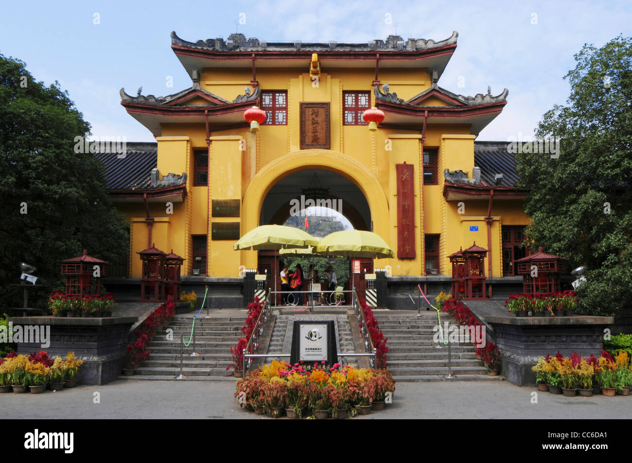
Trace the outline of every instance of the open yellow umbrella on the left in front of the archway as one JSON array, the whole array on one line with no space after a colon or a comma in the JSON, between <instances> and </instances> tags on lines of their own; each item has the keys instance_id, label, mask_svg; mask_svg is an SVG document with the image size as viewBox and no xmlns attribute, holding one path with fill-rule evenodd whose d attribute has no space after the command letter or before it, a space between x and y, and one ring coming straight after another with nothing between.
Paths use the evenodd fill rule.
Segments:
<instances>
[{"instance_id":1,"label":"open yellow umbrella on the left in front of the archway","mask_svg":"<svg viewBox=\"0 0 632 463\"><path fill-rule=\"evenodd\" d=\"M281 248L307 248L316 246L318 238L294 227L285 225L261 225L252 229L233 245L235 251L280 250Z\"/></svg>"}]
</instances>

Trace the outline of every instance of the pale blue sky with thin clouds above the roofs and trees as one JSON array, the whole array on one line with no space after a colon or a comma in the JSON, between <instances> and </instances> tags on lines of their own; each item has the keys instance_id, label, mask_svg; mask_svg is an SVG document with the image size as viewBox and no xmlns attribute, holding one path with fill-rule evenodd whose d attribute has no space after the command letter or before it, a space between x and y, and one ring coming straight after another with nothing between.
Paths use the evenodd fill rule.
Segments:
<instances>
[{"instance_id":1,"label":"pale blue sky with thin clouds above the roofs and trees","mask_svg":"<svg viewBox=\"0 0 632 463\"><path fill-rule=\"evenodd\" d=\"M184 40L239 32L262 40L367 42L386 39L398 23L404 39L442 40L459 32L458 47L439 85L465 95L509 89L507 105L478 140L530 136L542 114L564 104L562 80L583 44L601 46L632 35L632 3L625 1L68 1L3 2L0 53L27 63L46 83L68 90L95 136L153 141L125 112L119 89L167 95L191 80L171 51L172 30ZM99 14L99 24L94 15ZM166 87L173 76L173 88ZM462 78L461 78L462 76ZM465 83L459 87L459 78Z\"/></svg>"}]
</instances>

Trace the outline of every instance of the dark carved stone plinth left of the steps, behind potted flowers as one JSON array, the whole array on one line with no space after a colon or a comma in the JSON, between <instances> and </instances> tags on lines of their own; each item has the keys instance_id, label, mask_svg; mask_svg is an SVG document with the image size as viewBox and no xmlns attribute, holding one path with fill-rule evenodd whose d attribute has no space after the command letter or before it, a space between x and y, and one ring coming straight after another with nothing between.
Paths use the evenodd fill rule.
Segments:
<instances>
[{"instance_id":1,"label":"dark carved stone plinth left of the steps, behind potted flowers","mask_svg":"<svg viewBox=\"0 0 632 463\"><path fill-rule=\"evenodd\" d=\"M136 317L112 316L106 318L65 318L54 316L28 316L9 318L16 325L50 326L50 346L21 342L19 354L47 351L52 359L75 352L83 360L79 368L78 383L103 385L114 381L123 369L128 334Z\"/></svg>"}]
</instances>

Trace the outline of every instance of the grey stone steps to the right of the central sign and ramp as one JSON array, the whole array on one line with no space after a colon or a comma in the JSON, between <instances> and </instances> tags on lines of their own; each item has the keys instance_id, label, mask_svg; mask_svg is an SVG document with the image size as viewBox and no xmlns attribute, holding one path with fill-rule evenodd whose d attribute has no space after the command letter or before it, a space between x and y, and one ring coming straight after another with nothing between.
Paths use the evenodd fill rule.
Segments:
<instances>
[{"instance_id":1,"label":"grey stone steps to the right of the central sign and ramp","mask_svg":"<svg viewBox=\"0 0 632 463\"><path fill-rule=\"evenodd\" d=\"M399 313L398 313L399 312ZM423 312L418 318L416 312L375 311L380 328L388 338L386 345L387 367L395 380L441 381L447 375L448 349L444 344L433 342L433 328L437 325L437 313ZM444 322L456 325L454 318L441 316ZM441 345L441 348L437 346ZM451 346L452 374L457 381L501 380L502 376L488 376L472 344ZM449 381L449 380L446 380Z\"/></svg>"}]
</instances>

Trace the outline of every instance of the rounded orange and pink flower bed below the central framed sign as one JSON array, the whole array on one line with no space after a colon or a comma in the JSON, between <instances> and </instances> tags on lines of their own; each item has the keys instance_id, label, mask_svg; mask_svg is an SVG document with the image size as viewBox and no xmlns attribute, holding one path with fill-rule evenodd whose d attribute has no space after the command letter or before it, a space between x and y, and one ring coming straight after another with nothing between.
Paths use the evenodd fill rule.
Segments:
<instances>
[{"instance_id":1,"label":"rounded orange and pink flower bed below the central framed sign","mask_svg":"<svg viewBox=\"0 0 632 463\"><path fill-rule=\"evenodd\" d=\"M272 417L287 411L291 418L315 418L317 412L321 418L351 418L376 402L390 402L394 392L395 380L386 369L272 361L239 380L234 397L240 407Z\"/></svg>"}]
</instances>

